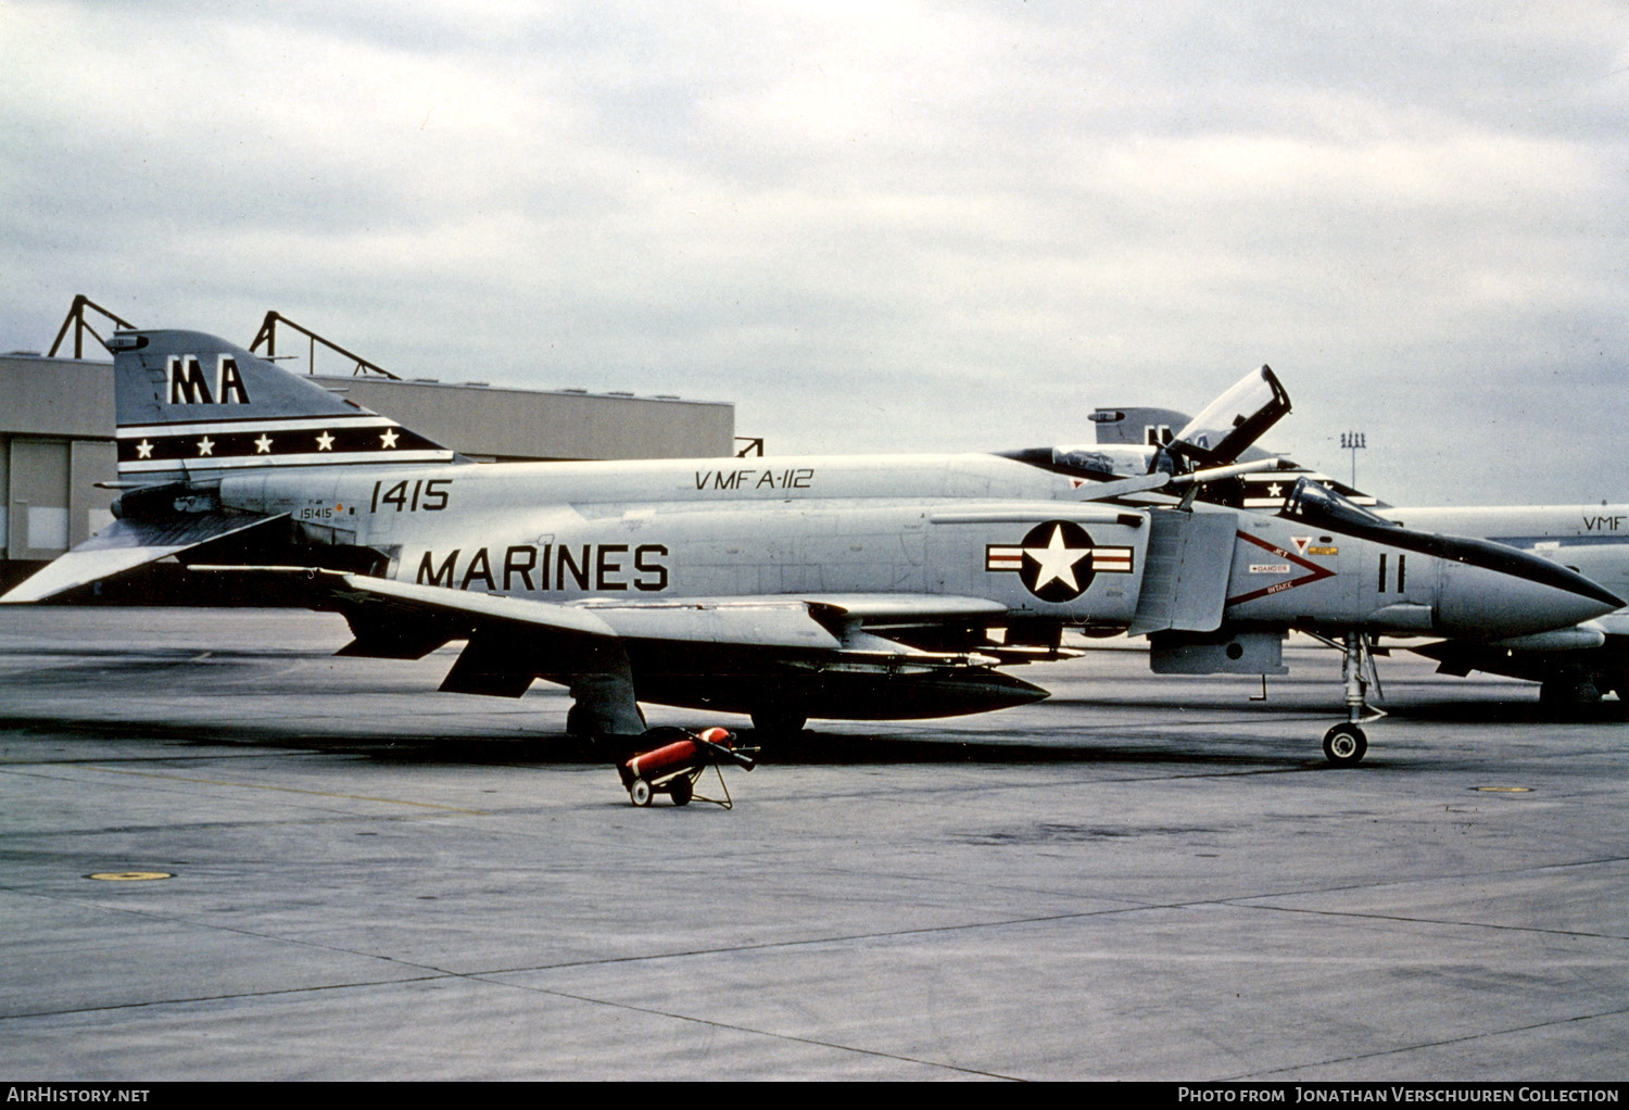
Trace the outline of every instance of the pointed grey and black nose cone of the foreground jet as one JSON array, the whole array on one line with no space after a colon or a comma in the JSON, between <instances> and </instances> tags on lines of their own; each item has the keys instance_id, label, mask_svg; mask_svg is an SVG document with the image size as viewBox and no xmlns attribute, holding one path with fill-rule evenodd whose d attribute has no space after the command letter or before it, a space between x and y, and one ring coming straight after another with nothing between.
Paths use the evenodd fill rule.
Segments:
<instances>
[{"instance_id":1,"label":"pointed grey and black nose cone of the foreground jet","mask_svg":"<svg viewBox=\"0 0 1629 1110\"><path fill-rule=\"evenodd\" d=\"M1464 551L1445 564L1437 603L1437 621L1450 636L1528 636L1624 606L1618 595L1548 559L1484 541L1458 544Z\"/></svg>"}]
</instances>

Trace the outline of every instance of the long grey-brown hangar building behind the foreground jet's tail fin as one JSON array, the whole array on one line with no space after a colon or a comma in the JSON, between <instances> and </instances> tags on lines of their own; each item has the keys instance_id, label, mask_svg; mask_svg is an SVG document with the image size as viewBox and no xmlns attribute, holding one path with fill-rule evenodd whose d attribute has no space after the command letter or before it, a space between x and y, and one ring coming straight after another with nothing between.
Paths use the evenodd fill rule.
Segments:
<instances>
[{"instance_id":1,"label":"long grey-brown hangar building behind the foreground jet's tail fin","mask_svg":"<svg viewBox=\"0 0 1629 1110\"><path fill-rule=\"evenodd\" d=\"M720 458L735 406L674 396L513 390L479 381L316 375L479 461ZM112 362L0 355L0 590L112 520Z\"/></svg>"}]
</instances>

